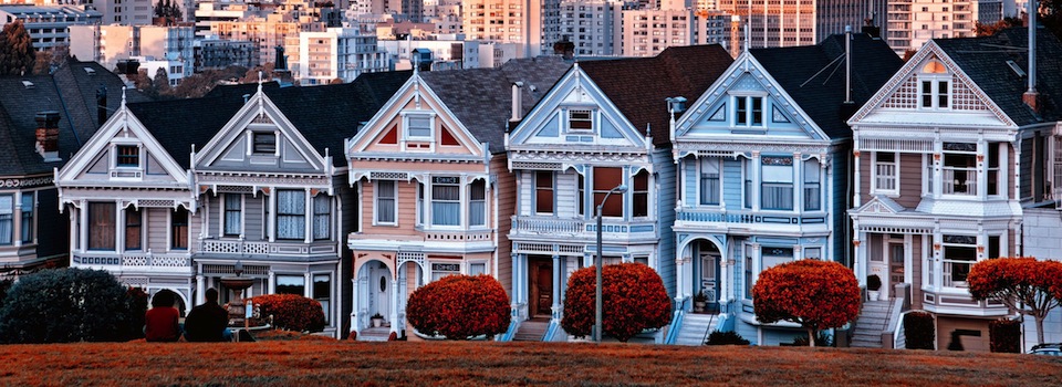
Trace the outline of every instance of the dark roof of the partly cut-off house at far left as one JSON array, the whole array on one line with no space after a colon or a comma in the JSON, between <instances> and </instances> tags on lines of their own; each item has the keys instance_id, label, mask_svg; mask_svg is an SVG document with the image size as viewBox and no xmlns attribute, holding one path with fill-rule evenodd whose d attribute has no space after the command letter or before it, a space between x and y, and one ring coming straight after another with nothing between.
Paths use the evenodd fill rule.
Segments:
<instances>
[{"instance_id":1,"label":"dark roof of the partly cut-off house at far left","mask_svg":"<svg viewBox=\"0 0 1062 387\"><path fill-rule=\"evenodd\" d=\"M0 76L0 176L45 174L70 160L100 127L96 91L101 85L106 87L111 115L122 104L124 84L95 62L70 61L50 75ZM149 101L133 90L127 91L126 98ZM61 161L44 163L35 150L35 117L46 111L60 114Z\"/></svg>"}]
</instances>

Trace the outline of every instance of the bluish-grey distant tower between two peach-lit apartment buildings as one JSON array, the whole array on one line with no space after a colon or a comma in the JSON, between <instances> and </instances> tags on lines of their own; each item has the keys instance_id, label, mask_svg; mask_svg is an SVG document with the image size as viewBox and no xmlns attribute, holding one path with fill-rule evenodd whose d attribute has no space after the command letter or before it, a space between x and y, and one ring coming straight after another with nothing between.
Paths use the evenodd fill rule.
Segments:
<instances>
[{"instance_id":1,"label":"bluish-grey distant tower between two peach-lit apartment buildings","mask_svg":"<svg viewBox=\"0 0 1062 387\"><path fill-rule=\"evenodd\" d=\"M620 55L623 50L622 11L623 3L615 0L563 0L559 41L572 42L579 56Z\"/></svg>"}]
</instances>

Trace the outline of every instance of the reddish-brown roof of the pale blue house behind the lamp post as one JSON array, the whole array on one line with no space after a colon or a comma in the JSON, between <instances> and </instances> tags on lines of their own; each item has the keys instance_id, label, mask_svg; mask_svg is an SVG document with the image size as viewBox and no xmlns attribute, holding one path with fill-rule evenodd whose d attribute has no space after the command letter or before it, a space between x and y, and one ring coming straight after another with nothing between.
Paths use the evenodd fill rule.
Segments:
<instances>
[{"instance_id":1,"label":"reddish-brown roof of the pale blue house behind the lamp post","mask_svg":"<svg viewBox=\"0 0 1062 387\"><path fill-rule=\"evenodd\" d=\"M731 62L727 50L711 44L673 46L653 57L589 61L579 66L638 133L644 134L648 125L653 143L669 147L670 117L665 100L697 100Z\"/></svg>"}]
</instances>

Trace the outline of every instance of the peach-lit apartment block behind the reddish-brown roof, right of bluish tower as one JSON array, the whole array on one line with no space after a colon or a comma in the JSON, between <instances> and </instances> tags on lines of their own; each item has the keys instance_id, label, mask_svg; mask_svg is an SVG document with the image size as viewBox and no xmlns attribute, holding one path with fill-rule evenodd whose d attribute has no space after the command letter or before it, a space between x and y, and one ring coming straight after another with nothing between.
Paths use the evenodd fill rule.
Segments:
<instances>
[{"instance_id":1,"label":"peach-lit apartment block behind the reddish-brown roof, right of bluish tower","mask_svg":"<svg viewBox=\"0 0 1062 387\"><path fill-rule=\"evenodd\" d=\"M691 9L623 10L623 55L656 56L673 45L691 45L694 41Z\"/></svg>"}]
</instances>

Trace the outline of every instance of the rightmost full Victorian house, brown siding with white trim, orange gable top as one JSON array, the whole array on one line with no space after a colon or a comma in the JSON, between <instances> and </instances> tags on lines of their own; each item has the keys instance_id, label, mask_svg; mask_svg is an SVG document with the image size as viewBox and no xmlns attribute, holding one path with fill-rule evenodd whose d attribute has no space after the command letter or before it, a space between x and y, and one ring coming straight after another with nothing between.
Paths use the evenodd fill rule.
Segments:
<instances>
[{"instance_id":1,"label":"rightmost full Victorian house, brown siding with white trim, orange gable top","mask_svg":"<svg viewBox=\"0 0 1062 387\"><path fill-rule=\"evenodd\" d=\"M850 121L856 275L933 313L938 349L989 349L988 323L1011 311L970 297L970 266L1023 254L1023 211L1053 208L1062 182L1059 41L1039 33L1037 73L1027 50L986 46L1028 48L1027 30L926 43Z\"/></svg>"}]
</instances>

